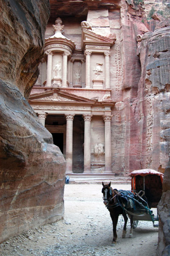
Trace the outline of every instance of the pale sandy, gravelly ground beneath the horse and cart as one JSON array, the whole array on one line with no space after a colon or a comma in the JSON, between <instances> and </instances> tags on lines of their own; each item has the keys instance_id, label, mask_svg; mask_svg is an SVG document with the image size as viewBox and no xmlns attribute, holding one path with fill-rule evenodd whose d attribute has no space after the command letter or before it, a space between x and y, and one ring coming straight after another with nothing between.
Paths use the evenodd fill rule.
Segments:
<instances>
[{"instance_id":1,"label":"pale sandy, gravelly ground beneath the horse and cart","mask_svg":"<svg viewBox=\"0 0 170 256\"><path fill-rule=\"evenodd\" d=\"M130 185L115 185L130 189ZM119 217L116 246L109 211L102 200L102 185L65 185L65 217L63 220L28 230L0 245L0 256L156 256L158 228L152 222L139 222L129 238L122 239L123 221Z\"/></svg>"}]
</instances>

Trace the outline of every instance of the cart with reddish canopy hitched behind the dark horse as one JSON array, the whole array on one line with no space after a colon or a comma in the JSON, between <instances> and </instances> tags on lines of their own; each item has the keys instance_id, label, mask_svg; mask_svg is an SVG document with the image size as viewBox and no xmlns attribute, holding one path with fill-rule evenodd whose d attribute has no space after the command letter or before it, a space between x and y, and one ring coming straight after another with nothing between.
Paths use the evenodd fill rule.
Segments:
<instances>
[{"instance_id":1,"label":"cart with reddish canopy hitched behind the dark horse","mask_svg":"<svg viewBox=\"0 0 170 256\"><path fill-rule=\"evenodd\" d=\"M133 214L133 228L139 220L152 221L158 227L157 205L161 199L163 174L152 169L142 169L130 173L131 191L135 195L136 209Z\"/></svg>"}]
</instances>

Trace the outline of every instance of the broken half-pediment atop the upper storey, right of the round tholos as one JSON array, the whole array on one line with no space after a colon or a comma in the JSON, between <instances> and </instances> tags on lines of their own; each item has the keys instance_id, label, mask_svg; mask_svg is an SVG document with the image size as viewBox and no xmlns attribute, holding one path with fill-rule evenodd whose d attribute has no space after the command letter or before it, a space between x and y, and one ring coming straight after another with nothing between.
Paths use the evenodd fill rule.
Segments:
<instances>
[{"instance_id":1,"label":"broken half-pediment atop the upper storey, right of the round tholos","mask_svg":"<svg viewBox=\"0 0 170 256\"><path fill-rule=\"evenodd\" d=\"M101 36L99 34L94 33L93 31L82 28L82 51L84 51L86 45L105 45L105 46L113 46L116 38L108 38Z\"/></svg>"}]
</instances>

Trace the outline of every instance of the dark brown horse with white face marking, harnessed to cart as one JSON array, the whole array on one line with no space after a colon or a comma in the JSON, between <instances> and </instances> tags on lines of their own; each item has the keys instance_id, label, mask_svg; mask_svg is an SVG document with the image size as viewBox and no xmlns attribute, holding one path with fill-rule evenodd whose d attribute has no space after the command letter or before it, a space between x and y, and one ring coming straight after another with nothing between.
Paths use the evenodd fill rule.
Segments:
<instances>
[{"instance_id":1,"label":"dark brown horse with white face marking, harnessed to cart","mask_svg":"<svg viewBox=\"0 0 170 256\"><path fill-rule=\"evenodd\" d=\"M116 239L117 239L117 233L116 233L116 226L118 222L118 217L120 214L122 214L124 218L124 227L123 227L123 233L122 238L125 238L126 236L126 225L127 225L127 214L126 209L122 206L122 199L120 198L119 191L117 189L111 188L111 182L109 184L104 184L102 182L103 188L103 202L105 206L108 208L110 212L110 216L113 223L113 241L112 246L116 245ZM130 207L127 210L133 213L133 208ZM133 237L133 215L128 213L128 216L130 218L130 234L129 237Z\"/></svg>"}]
</instances>

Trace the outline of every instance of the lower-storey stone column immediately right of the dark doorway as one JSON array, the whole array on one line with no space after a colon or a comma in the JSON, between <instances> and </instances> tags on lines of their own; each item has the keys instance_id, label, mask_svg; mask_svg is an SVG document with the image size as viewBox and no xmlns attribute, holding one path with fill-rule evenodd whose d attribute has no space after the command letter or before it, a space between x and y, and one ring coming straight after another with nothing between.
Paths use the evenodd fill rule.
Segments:
<instances>
[{"instance_id":1,"label":"lower-storey stone column immediately right of the dark doorway","mask_svg":"<svg viewBox=\"0 0 170 256\"><path fill-rule=\"evenodd\" d=\"M67 120L66 126L66 173L72 173L73 170L73 119L74 114L65 114Z\"/></svg>"}]
</instances>

